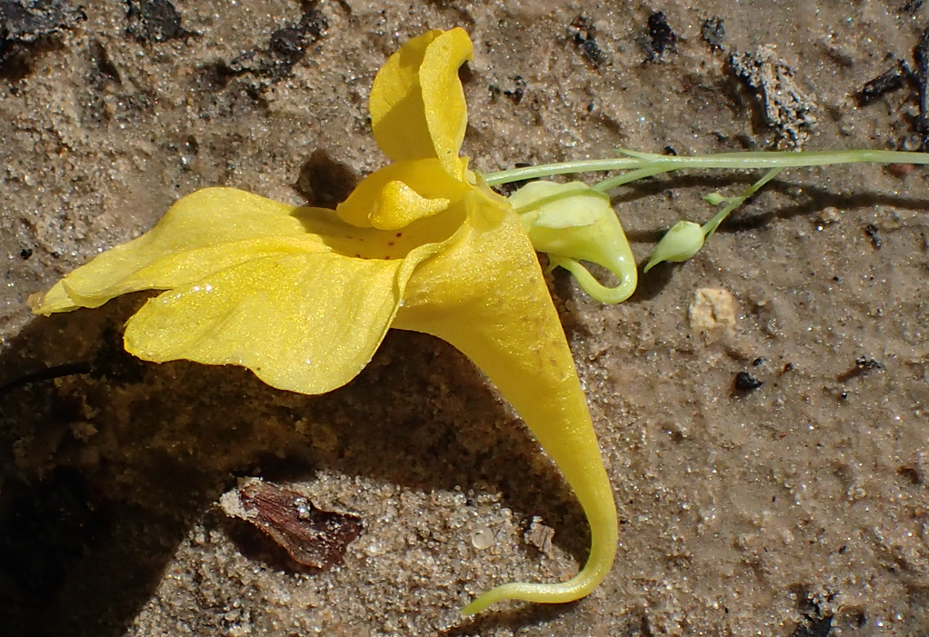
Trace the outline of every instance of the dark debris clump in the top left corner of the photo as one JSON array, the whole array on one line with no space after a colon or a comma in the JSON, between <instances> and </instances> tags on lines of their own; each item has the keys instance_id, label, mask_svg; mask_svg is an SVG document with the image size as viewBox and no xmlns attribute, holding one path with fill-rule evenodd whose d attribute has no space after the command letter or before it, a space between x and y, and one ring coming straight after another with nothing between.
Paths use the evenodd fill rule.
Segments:
<instances>
[{"instance_id":1,"label":"dark debris clump in the top left corner of the photo","mask_svg":"<svg viewBox=\"0 0 929 637\"><path fill-rule=\"evenodd\" d=\"M25 76L31 46L86 19L70 0L0 0L0 73Z\"/></svg>"}]
</instances>

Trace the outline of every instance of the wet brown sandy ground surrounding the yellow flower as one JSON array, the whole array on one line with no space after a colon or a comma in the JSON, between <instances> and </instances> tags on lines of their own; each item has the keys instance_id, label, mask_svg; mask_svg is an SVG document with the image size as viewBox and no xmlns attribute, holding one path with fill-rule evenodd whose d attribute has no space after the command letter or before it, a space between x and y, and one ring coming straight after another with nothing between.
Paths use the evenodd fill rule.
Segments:
<instances>
[{"instance_id":1,"label":"wet brown sandy ground surrounding the yellow flower","mask_svg":"<svg viewBox=\"0 0 929 637\"><path fill-rule=\"evenodd\" d=\"M131 19L117 0L65 4L0 49L0 383L90 371L0 396L5 634L929 634L923 170L786 173L622 305L549 279L622 515L613 571L577 604L458 615L494 584L569 577L587 529L448 345L392 332L344 389L295 396L122 353L144 295L55 318L24 305L194 189L338 202L386 162L366 120L374 72L427 28L475 42L464 150L492 171L620 146L913 149L915 83L855 95L893 57L912 63L929 7L175 0L148 20L130 4ZM670 32L649 29L657 10ZM704 32L713 17L725 34ZM778 125L728 63L745 53L794 71ZM677 219L708 218L701 194L749 179L617 192L636 258ZM688 315L704 288L732 299L709 334ZM734 390L740 371L763 384ZM358 514L345 565L299 569L222 513L248 475ZM525 537L536 516L547 550Z\"/></svg>"}]
</instances>

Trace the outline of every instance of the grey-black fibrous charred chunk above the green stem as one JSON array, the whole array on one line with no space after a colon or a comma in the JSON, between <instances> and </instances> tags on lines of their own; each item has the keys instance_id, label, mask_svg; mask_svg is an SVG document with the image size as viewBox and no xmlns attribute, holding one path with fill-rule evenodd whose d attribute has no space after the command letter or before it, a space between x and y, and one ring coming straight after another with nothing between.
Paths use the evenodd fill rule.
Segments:
<instances>
[{"instance_id":1,"label":"grey-black fibrous charred chunk above the green stem","mask_svg":"<svg viewBox=\"0 0 929 637\"><path fill-rule=\"evenodd\" d=\"M754 53L731 53L729 67L744 84L761 94L765 124L775 129L792 148L803 145L817 122L817 103L795 80L791 67L777 57L771 46Z\"/></svg>"}]
</instances>

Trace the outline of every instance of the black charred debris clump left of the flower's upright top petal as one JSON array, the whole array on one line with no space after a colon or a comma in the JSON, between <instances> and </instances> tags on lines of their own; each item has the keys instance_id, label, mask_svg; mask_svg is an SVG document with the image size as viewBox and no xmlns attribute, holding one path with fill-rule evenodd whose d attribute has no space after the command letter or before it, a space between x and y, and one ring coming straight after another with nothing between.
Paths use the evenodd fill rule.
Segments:
<instances>
[{"instance_id":1,"label":"black charred debris clump left of the flower's upright top petal","mask_svg":"<svg viewBox=\"0 0 929 637\"><path fill-rule=\"evenodd\" d=\"M290 74L294 64L307 54L309 45L319 40L328 28L329 23L315 3L305 3L299 22L271 33L268 48L248 51L232 59L229 70L235 74L255 73L272 82L280 80Z\"/></svg>"}]
</instances>

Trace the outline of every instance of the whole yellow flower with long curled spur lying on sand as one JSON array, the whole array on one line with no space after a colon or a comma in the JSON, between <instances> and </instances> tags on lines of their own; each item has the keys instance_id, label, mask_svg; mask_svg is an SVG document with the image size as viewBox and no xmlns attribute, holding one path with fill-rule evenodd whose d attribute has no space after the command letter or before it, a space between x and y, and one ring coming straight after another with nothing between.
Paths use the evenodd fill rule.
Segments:
<instances>
[{"instance_id":1,"label":"whole yellow flower with long curled spur lying on sand","mask_svg":"<svg viewBox=\"0 0 929 637\"><path fill-rule=\"evenodd\" d=\"M336 210L236 189L178 201L150 232L98 255L31 299L51 314L164 290L126 324L126 349L162 362L242 365L321 394L354 378L393 327L448 341L517 409L565 475L592 548L566 582L511 583L468 604L569 602L616 552L617 516L581 384L522 222L459 157L467 111L461 29L427 32L378 72L374 136L394 162Z\"/></svg>"}]
</instances>

